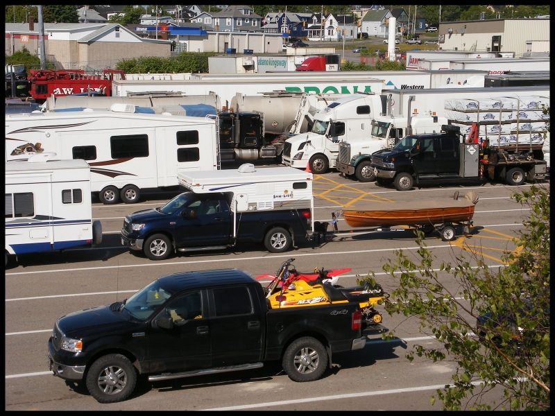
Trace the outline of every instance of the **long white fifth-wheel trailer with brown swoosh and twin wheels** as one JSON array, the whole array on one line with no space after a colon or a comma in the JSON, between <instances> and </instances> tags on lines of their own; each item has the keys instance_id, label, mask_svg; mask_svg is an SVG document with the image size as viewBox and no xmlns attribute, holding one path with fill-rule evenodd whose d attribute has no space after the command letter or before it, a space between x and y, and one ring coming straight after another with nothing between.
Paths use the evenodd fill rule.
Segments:
<instances>
[{"instance_id":1,"label":"long white fifth-wheel trailer with brown swoosh and twin wheels","mask_svg":"<svg viewBox=\"0 0 555 416\"><path fill-rule=\"evenodd\" d=\"M42 152L85 159L101 202L134 203L146 188L176 187L180 170L219 168L216 121L203 117L112 111L6 116L6 161Z\"/></svg>"}]
</instances>

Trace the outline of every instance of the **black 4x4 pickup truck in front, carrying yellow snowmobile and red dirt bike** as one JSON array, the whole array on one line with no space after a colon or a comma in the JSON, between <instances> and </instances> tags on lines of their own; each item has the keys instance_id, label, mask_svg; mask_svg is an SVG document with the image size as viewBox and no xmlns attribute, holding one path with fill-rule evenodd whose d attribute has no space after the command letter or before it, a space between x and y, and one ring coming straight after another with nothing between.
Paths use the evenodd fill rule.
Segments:
<instances>
[{"instance_id":1,"label":"black 4x4 pickup truck in front, carrying yellow snowmobile and red dirt bike","mask_svg":"<svg viewBox=\"0 0 555 416\"><path fill-rule=\"evenodd\" d=\"M264 288L237 269L161 277L128 300L62 316L49 368L85 381L101 403L149 381L248 370L281 360L293 381L319 379L332 353L364 348L358 302L268 309Z\"/></svg>"}]
</instances>

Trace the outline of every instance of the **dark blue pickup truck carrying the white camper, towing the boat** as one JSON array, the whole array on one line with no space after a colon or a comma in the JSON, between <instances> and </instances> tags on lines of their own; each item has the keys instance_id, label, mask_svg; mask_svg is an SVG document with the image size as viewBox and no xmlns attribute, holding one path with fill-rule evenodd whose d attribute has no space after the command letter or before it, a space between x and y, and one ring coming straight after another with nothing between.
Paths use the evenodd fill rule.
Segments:
<instances>
[{"instance_id":1,"label":"dark blue pickup truck carrying the white camper, towing the boat","mask_svg":"<svg viewBox=\"0 0 555 416\"><path fill-rule=\"evenodd\" d=\"M234 218L229 199L225 193L188 191L163 207L137 211L123 220L121 244L142 250L151 260L163 260L176 250L223 250L237 243L264 243L266 250L277 253L309 241L309 208L243 212Z\"/></svg>"}]
</instances>

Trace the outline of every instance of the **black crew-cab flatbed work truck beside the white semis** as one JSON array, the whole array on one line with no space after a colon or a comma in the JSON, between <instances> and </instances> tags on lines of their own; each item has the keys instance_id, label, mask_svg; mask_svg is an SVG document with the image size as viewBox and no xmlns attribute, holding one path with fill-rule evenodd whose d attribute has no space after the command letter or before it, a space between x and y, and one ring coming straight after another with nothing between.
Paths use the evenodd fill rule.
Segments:
<instances>
[{"instance_id":1,"label":"black crew-cab flatbed work truck beside the white semis","mask_svg":"<svg viewBox=\"0 0 555 416\"><path fill-rule=\"evenodd\" d=\"M406 191L426 182L469 182L503 180L509 185L545 179L547 164L540 159L541 145L495 146L472 135L461 135L459 126L443 125L440 133L409 135L391 149L372 155L376 183L394 184Z\"/></svg>"}]
</instances>

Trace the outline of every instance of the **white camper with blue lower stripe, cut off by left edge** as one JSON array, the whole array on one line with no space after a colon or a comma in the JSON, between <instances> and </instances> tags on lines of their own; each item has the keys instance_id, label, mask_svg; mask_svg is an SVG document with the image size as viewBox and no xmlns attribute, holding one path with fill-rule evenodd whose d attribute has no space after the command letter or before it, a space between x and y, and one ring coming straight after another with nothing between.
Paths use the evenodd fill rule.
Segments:
<instances>
[{"instance_id":1,"label":"white camper with blue lower stripe, cut off by left edge","mask_svg":"<svg viewBox=\"0 0 555 416\"><path fill-rule=\"evenodd\" d=\"M89 165L52 154L6 163L6 266L8 256L100 244L92 220Z\"/></svg>"}]
</instances>

